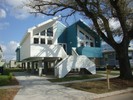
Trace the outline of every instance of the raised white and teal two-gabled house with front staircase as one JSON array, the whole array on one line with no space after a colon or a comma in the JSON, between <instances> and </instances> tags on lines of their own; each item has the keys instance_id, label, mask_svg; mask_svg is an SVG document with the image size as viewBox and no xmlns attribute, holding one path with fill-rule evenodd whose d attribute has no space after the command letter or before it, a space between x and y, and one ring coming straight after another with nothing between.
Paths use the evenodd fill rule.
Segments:
<instances>
[{"instance_id":1,"label":"raised white and teal two-gabled house with front staircase","mask_svg":"<svg viewBox=\"0 0 133 100\"><path fill-rule=\"evenodd\" d=\"M66 27L54 17L28 29L16 56L32 73L53 73L61 78L72 70L95 74L93 61L102 57L102 51L99 36L85 22L79 20Z\"/></svg>"}]
</instances>

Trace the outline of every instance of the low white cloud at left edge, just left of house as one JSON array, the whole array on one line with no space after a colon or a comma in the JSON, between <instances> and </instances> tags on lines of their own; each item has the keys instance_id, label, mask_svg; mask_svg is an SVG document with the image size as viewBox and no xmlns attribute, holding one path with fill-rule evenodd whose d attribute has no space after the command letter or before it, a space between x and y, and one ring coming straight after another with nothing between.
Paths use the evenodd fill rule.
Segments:
<instances>
[{"instance_id":1,"label":"low white cloud at left edge, just left of house","mask_svg":"<svg viewBox=\"0 0 133 100\"><path fill-rule=\"evenodd\" d=\"M6 61L16 59L16 53L15 50L19 46L19 43L16 41L10 41L7 44L0 44L3 50L3 59L6 59Z\"/></svg>"}]
</instances>

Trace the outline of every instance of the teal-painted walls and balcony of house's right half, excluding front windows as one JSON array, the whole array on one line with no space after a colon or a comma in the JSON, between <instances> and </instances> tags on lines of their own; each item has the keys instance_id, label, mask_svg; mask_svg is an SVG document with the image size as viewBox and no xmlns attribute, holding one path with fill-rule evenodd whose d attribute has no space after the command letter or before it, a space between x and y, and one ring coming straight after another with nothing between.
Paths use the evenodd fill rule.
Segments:
<instances>
[{"instance_id":1,"label":"teal-painted walls and balcony of house's right half, excluding front windows","mask_svg":"<svg viewBox=\"0 0 133 100\"><path fill-rule=\"evenodd\" d=\"M95 46L96 47L79 47L77 48L77 26L84 29L88 34L95 38ZM79 55L86 55L87 57L102 57L102 52L99 47L101 47L99 36L91 30L86 24L82 21L78 21L72 24L69 27L64 27L61 23L57 25L57 37L58 43L66 43L67 44L67 54L72 54L72 47L77 48L77 53ZM63 31L64 30L64 31Z\"/></svg>"}]
</instances>

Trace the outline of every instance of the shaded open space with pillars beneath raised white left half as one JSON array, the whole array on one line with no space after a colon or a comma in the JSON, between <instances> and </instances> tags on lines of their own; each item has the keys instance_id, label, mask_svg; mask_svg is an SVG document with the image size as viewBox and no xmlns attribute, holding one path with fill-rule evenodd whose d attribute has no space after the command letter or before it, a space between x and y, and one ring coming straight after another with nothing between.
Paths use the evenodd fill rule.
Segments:
<instances>
[{"instance_id":1,"label":"shaded open space with pillars beneath raised white left half","mask_svg":"<svg viewBox=\"0 0 133 100\"><path fill-rule=\"evenodd\" d=\"M22 61L22 68L39 76L54 75L54 67L59 61L59 57L30 57Z\"/></svg>"}]
</instances>

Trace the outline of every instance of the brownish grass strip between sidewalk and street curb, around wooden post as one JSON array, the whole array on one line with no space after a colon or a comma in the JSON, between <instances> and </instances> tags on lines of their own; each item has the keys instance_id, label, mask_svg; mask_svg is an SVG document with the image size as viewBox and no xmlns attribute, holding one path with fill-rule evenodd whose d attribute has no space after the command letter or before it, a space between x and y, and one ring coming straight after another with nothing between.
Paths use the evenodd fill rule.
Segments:
<instances>
[{"instance_id":1,"label":"brownish grass strip between sidewalk and street curb, around wooden post","mask_svg":"<svg viewBox=\"0 0 133 100\"><path fill-rule=\"evenodd\" d=\"M87 91L87 92L100 94L100 93L106 93L106 92L126 89L128 87L133 87L133 79L130 81L121 80L118 78L111 79L110 80L111 89L107 88L107 81L106 80L92 81L92 82L69 83L69 84L64 84L64 86L75 88L78 90L83 90L83 91Z\"/></svg>"}]
</instances>

